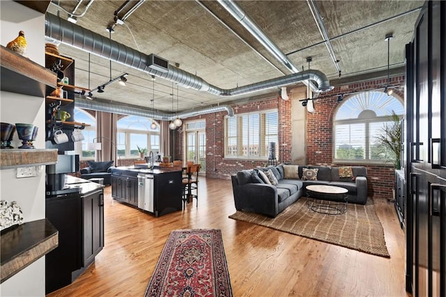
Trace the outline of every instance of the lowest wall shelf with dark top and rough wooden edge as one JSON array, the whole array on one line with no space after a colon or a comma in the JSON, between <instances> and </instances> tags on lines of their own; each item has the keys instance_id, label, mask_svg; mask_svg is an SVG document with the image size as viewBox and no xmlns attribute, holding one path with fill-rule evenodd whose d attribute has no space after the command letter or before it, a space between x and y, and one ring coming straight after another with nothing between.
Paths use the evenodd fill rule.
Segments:
<instances>
[{"instance_id":1,"label":"lowest wall shelf with dark top and rough wooden edge","mask_svg":"<svg viewBox=\"0 0 446 297\"><path fill-rule=\"evenodd\" d=\"M47 219L1 231L1 279L8 280L59 245L59 231Z\"/></svg>"}]
</instances>

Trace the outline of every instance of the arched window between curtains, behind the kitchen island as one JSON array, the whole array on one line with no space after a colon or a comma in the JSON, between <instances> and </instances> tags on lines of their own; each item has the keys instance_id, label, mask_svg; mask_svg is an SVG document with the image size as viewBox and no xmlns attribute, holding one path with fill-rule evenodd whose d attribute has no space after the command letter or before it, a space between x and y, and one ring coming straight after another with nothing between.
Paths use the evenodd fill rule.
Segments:
<instances>
[{"instance_id":1,"label":"arched window between curtains, behind the kitchen island","mask_svg":"<svg viewBox=\"0 0 446 297\"><path fill-rule=\"evenodd\" d=\"M118 120L118 155L139 157L138 146L153 153L160 151L160 126L151 129L151 123L151 119L142 116L125 116Z\"/></svg>"}]
</instances>

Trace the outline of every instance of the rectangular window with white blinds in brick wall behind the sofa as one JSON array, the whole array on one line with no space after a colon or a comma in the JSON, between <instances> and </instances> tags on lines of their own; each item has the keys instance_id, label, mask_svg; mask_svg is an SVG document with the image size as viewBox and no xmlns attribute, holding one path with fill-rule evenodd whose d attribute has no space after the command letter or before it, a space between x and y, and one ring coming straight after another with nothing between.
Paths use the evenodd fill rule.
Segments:
<instances>
[{"instance_id":1,"label":"rectangular window with white blinds in brick wall behind the sofa","mask_svg":"<svg viewBox=\"0 0 446 297\"><path fill-rule=\"evenodd\" d=\"M226 116L224 126L225 158L268 159L268 143L279 139L277 110Z\"/></svg>"}]
</instances>

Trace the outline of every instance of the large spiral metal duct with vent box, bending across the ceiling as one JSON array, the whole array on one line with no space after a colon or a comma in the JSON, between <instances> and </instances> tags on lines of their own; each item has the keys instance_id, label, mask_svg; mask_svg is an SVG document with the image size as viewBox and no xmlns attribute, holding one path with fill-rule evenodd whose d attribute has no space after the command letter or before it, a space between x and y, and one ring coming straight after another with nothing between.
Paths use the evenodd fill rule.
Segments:
<instances>
[{"instance_id":1,"label":"large spiral metal duct with vent box, bending across the ceiling","mask_svg":"<svg viewBox=\"0 0 446 297\"><path fill-rule=\"evenodd\" d=\"M234 89L221 89L209 84L201 77L187 73L185 70L176 68L175 66L168 65L167 72L149 68L148 55L49 13L45 15L45 36L60 40L61 43L76 47L80 50L97 54L105 59L141 70L150 75L167 79L179 86L206 91L217 96L238 96L266 89L279 89L282 86L302 82L305 79L311 79L316 82L318 91L320 92L330 91L332 89L329 79L318 70L293 73L264 82L239 86Z\"/></svg>"}]
</instances>

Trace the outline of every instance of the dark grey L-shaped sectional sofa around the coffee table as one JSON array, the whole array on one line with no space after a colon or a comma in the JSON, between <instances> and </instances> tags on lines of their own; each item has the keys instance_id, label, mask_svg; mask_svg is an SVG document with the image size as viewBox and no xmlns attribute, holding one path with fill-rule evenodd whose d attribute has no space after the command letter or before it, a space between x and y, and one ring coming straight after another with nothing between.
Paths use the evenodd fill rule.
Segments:
<instances>
[{"instance_id":1,"label":"dark grey L-shaped sectional sofa around the coffee table","mask_svg":"<svg viewBox=\"0 0 446 297\"><path fill-rule=\"evenodd\" d=\"M259 171L268 172L277 180L276 185L266 183ZM295 174L290 174L290 169ZM305 180L302 174L317 169L316 180ZM350 167L350 177L339 176L339 167L278 165L242 170L231 176L234 202L238 211L261 213L271 218L307 195L306 186L314 184L337 185L348 190L348 203L367 203L367 168ZM303 178L303 179L302 179Z\"/></svg>"}]
</instances>

